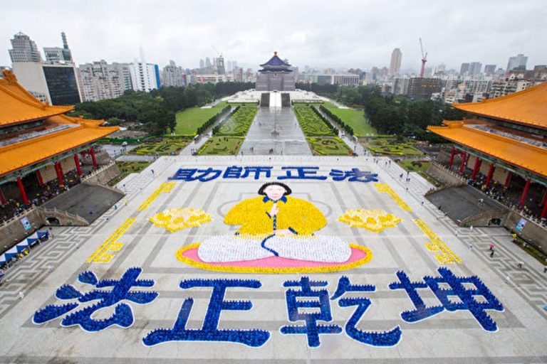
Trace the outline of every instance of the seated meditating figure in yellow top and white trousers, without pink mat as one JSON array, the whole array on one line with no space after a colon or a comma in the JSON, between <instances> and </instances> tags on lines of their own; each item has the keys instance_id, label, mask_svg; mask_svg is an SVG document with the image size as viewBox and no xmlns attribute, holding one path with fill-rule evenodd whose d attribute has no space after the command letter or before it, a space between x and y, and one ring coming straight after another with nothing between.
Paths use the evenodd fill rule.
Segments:
<instances>
[{"instance_id":1,"label":"seated meditating figure in yellow top and white trousers, without pink mat","mask_svg":"<svg viewBox=\"0 0 547 364\"><path fill-rule=\"evenodd\" d=\"M283 257L314 262L345 262L348 243L339 237L316 235L327 225L321 210L290 196L283 183L265 183L259 196L235 205L224 218L226 225L241 225L235 235L210 237L199 246L204 262L238 262Z\"/></svg>"}]
</instances>

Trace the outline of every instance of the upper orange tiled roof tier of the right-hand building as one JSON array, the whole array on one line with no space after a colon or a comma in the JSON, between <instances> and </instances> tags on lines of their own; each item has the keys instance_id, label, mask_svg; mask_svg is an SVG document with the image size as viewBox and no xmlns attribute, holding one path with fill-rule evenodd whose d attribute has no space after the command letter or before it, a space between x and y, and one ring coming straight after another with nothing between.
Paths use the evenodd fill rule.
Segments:
<instances>
[{"instance_id":1,"label":"upper orange tiled roof tier of the right-hand building","mask_svg":"<svg viewBox=\"0 0 547 364\"><path fill-rule=\"evenodd\" d=\"M452 106L483 117L547 129L547 82L511 95Z\"/></svg>"}]
</instances>

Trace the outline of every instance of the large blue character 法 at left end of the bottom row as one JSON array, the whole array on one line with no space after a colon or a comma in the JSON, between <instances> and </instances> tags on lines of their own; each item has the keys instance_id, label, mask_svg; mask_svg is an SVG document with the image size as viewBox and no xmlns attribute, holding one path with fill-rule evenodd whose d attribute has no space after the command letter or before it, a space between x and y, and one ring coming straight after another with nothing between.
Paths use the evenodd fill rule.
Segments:
<instances>
[{"instance_id":1,"label":"large blue character \u6cd5 at left end of the bottom row","mask_svg":"<svg viewBox=\"0 0 547 364\"><path fill-rule=\"evenodd\" d=\"M131 291L133 287L152 287L154 285L152 279L138 279L141 272L141 268L132 267L125 271L121 279L102 279L100 281L93 272L83 272L78 276L78 282L96 289L82 293L71 285L59 287L55 294L57 299L77 301L61 306L48 305L36 311L33 322L38 324L46 323L68 314L80 304L93 302L91 306L85 306L83 309L65 316L61 321L61 326L79 325L83 330L91 332L101 331L113 325L123 328L130 327L134 322L131 306L120 302L127 300L134 304L150 304L158 295L155 291ZM108 319L92 319L91 316L100 309L115 304L114 314Z\"/></svg>"}]
</instances>

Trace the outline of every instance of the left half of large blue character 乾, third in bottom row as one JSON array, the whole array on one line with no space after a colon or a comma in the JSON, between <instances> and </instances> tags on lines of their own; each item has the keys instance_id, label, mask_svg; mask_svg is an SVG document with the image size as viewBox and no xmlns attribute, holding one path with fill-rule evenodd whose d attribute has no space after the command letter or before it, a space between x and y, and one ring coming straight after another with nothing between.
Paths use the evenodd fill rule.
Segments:
<instances>
[{"instance_id":1,"label":"left half of large blue character \u4e7e, third in bottom row","mask_svg":"<svg viewBox=\"0 0 547 364\"><path fill-rule=\"evenodd\" d=\"M323 325L317 321L333 321L330 314L330 302L326 289L313 287L325 287L328 283L323 281L311 281L308 277L301 277L300 281L286 281L283 287L299 287L300 290L287 289L285 296L287 301L288 320L291 322L304 321L303 326L283 326L283 334L304 334L308 336L308 346L316 347L321 343L319 335L325 333L341 333L338 325ZM302 300L302 298L308 300ZM300 309L307 309L301 311ZM313 313L309 309L318 309Z\"/></svg>"}]
</instances>

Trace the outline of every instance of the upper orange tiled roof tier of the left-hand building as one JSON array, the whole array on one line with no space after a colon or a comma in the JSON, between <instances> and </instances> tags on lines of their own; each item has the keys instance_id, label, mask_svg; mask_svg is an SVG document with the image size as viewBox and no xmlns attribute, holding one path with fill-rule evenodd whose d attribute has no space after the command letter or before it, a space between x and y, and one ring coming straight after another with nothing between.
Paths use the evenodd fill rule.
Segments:
<instances>
[{"instance_id":1,"label":"upper orange tiled roof tier of the left-hand building","mask_svg":"<svg viewBox=\"0 0 547 364\"><path fill-rule=\"evenodd\" d=\"M46 105L33 97L17 82L11 71L2 72L0 78L0 127L69 112L71 106Z\"/></svg>"}]
</instances>

